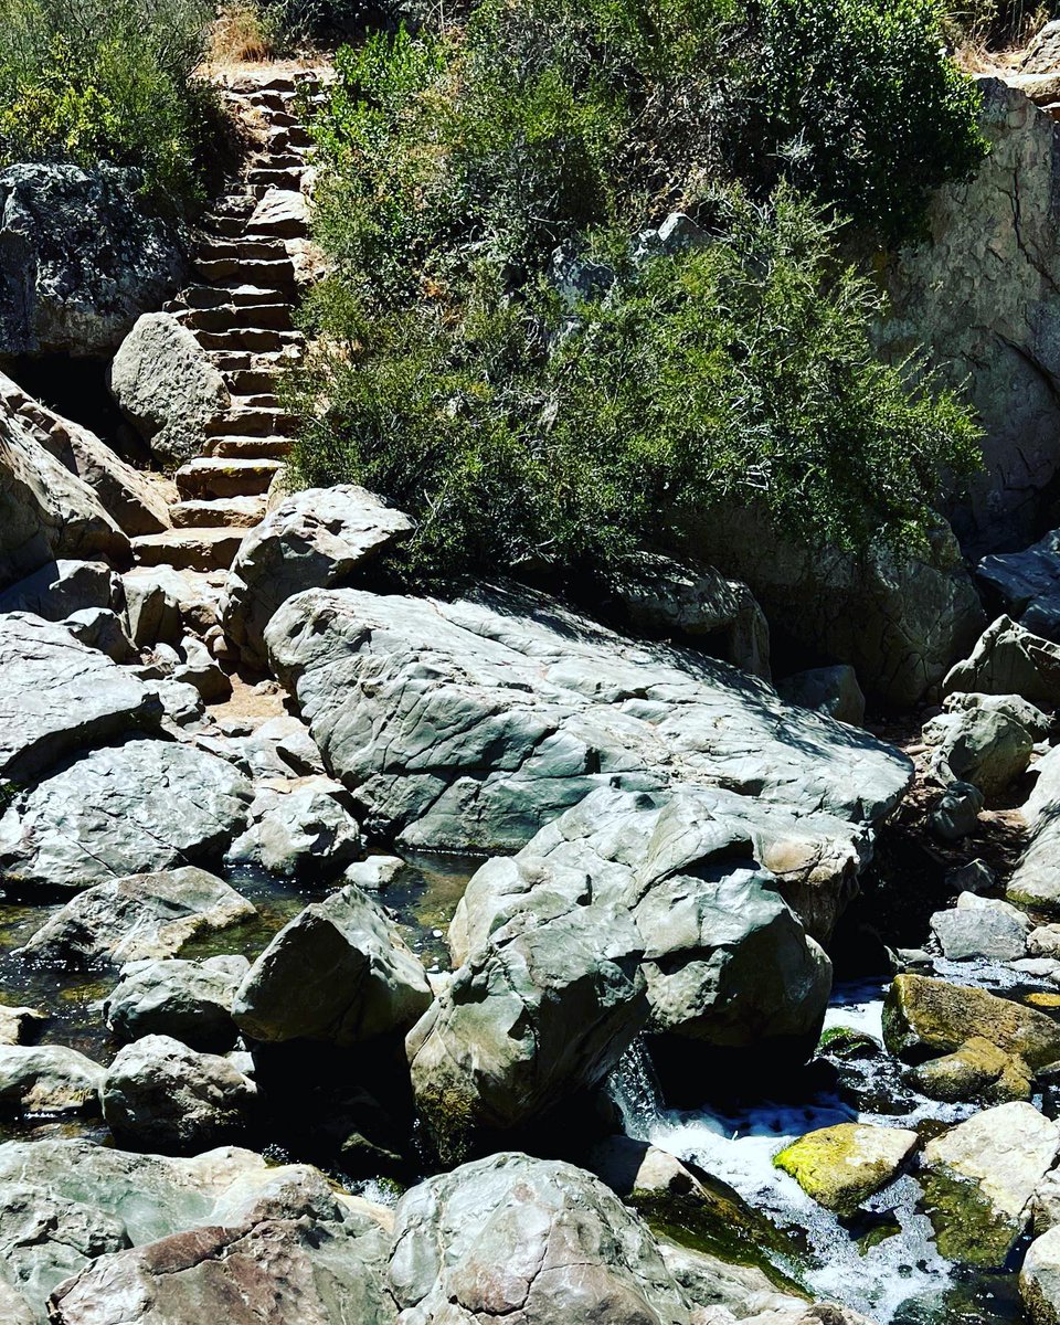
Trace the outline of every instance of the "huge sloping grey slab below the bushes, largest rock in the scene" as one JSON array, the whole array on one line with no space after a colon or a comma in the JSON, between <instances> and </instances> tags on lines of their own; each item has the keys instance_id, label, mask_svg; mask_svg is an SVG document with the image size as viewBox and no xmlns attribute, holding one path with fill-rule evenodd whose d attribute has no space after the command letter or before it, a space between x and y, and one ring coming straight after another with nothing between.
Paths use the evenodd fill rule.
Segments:
<instances>
[{"instance_id":1,"label":"huge sloping grey slab below the bushes, largest rock in the scene","mask_svg":"<svg viewBox=\"0 0 1060 1325\"><path fill-rule=\"evenodd\" d=\"M910 775L897 751L723 662L522 592L315 590L266 633L366 828L409 845L518 848L598 787L682 779L872 822Z\"/></svg>"}]
</instances>

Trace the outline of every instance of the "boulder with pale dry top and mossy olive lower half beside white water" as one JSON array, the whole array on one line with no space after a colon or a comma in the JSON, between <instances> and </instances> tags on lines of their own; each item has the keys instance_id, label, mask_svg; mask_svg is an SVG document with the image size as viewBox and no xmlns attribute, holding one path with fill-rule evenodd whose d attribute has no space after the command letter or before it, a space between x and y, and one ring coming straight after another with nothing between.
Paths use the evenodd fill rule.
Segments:
<instances>
[{"instance_id":1,"label":"boulder with pale dry top and mossy olive lower half beside white water","mask_svg":"<svg viewBox=\"0 0 1060 1325\"><path fill-rule=\"evenodd\" d=\"M922 1186L942 1255L969 1265L1003 1265L1057 1154L1060 1125L1030 1104L986 1109L930 1141Z\"/></svg>"}]
</instances>

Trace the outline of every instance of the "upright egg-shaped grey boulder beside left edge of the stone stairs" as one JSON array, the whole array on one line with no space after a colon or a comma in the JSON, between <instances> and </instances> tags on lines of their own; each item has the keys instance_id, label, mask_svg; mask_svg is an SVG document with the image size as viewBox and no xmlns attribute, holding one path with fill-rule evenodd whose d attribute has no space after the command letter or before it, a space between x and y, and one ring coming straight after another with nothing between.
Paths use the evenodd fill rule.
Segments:
<instances>
[{"instance_id":1,"label":"upright egg-shaped grey boulder beside left edge of the stone stairs","mask_svg":"<svg viewBox=\"0 0 1060 1325\"><path fill-rule=\"evenodd\" d=\"M199 454L207 425L232 404L224 378L170 313L144 313L110 366L110 390L129 421L170 468Z\"/></svg>"}]
</instances>

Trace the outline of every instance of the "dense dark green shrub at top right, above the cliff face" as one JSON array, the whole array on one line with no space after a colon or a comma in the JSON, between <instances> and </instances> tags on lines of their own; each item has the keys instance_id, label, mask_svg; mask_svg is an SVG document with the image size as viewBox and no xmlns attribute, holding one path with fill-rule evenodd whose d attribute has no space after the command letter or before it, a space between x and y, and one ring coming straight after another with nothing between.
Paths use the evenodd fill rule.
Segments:
<instances>
[{"instance_id":1,"label":"dense dark green shrub at top right, above the cliff face","mask_svg":"<svg viewBox=\"0 0 1060 1325\"><path fill-rule=\"evenodd\" d=\"M941 24L933 0L762 0L741 136L759 187L783 176L886 242L914 232L986 150Z\"/></svg>"}]
</instances>

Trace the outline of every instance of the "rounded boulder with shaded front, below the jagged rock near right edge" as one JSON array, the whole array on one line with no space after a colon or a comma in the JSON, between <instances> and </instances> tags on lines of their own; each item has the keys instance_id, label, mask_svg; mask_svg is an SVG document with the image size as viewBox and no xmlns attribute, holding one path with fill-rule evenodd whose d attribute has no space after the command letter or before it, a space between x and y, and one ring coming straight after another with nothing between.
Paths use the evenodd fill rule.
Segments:
<instances>
[{"instance_id":1,"label":"rounded boulder with shaded front, below the jagged rock near right edge","mask_svg":"<svg viewBox=\"0 0 1060 1325\"><path fill-rule=\"evenodd\" d=\"M1000 697L1000 702L995 696L967 698L975 702L958 701L928 722L924 742L934 747L933 767L941 768L945 782L970 782L987 802L996 800L1027 771L1036 735L1016 717L1023 702L1018 696Z\"/></svg>"}]
</instances>

